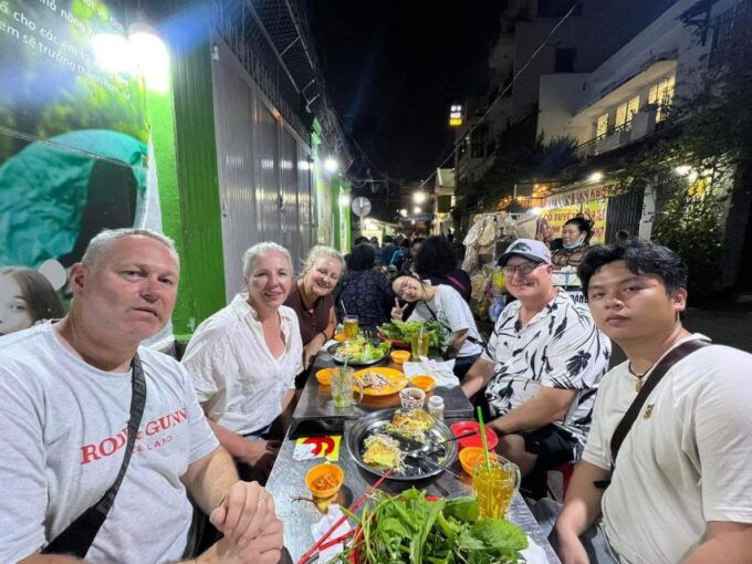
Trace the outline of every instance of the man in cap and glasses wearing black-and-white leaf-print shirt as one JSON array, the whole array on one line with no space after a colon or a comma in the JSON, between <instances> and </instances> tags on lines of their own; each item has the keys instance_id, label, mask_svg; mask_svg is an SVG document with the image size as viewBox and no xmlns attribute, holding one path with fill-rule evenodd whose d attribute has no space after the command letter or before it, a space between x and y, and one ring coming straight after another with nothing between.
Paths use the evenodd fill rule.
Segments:
<instances>
[{"instance_id":1,"label":"man in cap and glasses wearing black-and-white leaf-print shirt","mask_svg":"<svg viewBox=\"0 0 752 564\"><path fill-rule=\"evenodd\" d=\"M518 300L499 316L462 391L472 397L484 388L500 451L526 476L578 457L610 341L587 306L554 288L544 243L518 239L499 264Z\"/></svg>"}]
</instances>

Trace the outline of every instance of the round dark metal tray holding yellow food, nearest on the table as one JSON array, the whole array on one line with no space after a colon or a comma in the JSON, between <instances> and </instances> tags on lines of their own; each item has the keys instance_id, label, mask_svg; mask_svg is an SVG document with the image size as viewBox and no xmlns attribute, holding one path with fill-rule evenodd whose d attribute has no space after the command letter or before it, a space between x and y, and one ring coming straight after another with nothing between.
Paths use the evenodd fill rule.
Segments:
<instances>
[{"instance_id":1,"label":"round dark metal tray holding yellow food, nearest on the table","mask_svg":"<svg viewBox=\"0 0 752 564\"><path fill-rule=\"evenodd\" d=\"M406 452L417 449L421 446L420 442L391 435L384 429L385 426L391 421L395 411L397 410L383 409L380 411L374 411L373 414L362 417L355 421L345 432L345 443L347 445L347 451L349 452L349 456L353 457L353 460L355 460L355 463L364 470L376 476L384 476L386 470L374 468L363 461L363 453L365 452L363 441L370 435L376 432L389 435L390 437L397 439L401 450ZM434 427L426 431L427 442L429 445L436 445L437 442L450 439L452 437L452 432L449 427L447 427L447 425L441 419L434 419ZM457 442L451 441L441 445L438 447L437 452L429 455L429 458L440 462L443 466L451 466L451 463L457 458ZM431 464L426 460L420 460L414 457L407 457L405 459L405 467L406 469L404 474L393 473L389 476L388 480L412 482L417 480L425 480L426 478L431 478L443 472L443 469Z\"/></svg>"}]
</instances>

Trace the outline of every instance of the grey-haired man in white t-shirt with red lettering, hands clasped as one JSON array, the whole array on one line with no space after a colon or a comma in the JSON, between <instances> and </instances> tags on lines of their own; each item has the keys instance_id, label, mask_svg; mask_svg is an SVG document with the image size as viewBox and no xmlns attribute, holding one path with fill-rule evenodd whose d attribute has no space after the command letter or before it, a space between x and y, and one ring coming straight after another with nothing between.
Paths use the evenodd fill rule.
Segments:
<instances>
[{"instance_id":1,"label":"grey-haired man in white t-shirt with red lettering, hands clasped","mask_svg":"<svg viewBox=\"0 0 752 564\"><path fill-rule=\"evenodd\" d=\"M180 365L140 346L169 321L178 280L171 240L104 231L71 268L71 312L0 337L0 562L279 561L271 495L238 480ZM140 425L129 434L139 396ZM72 525L95 504L102 513L97 500L118 476L128 436L133 456L101 529ZM184 561L188 493L224 537Z\"/></svg>"}]
</instances>

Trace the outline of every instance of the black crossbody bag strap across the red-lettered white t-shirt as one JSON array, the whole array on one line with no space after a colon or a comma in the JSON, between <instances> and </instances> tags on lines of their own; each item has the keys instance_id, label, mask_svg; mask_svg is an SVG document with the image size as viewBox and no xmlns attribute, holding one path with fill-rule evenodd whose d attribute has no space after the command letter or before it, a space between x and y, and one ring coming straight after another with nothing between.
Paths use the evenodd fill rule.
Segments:
<instances>
[{"instance_id":1,"label":"black crossbody bag strap across the red-lettered white t-shirt","mask_svg":"<svg viewBox=\"0 0 752 564\"><path fill-rule=\"evenodd\" d=\"M125 471L128 469L133 447L136 442L136 435L138 435L138 427L144 415L144 406L146 405L146 379L144 378L144 369L138 354L133 357L130 387L133 394L130 396L128 440L125 446L125 456L123 457L121 471L117 473L115 482L104 492L100 501L79 515L62 533L42 549L42 554L65 554L84 558L94 542L96 533L100 532L102 524L107 519L107 513L113 503L115 503L115 497L125 477Z\"/></svg>"}]
</instances>

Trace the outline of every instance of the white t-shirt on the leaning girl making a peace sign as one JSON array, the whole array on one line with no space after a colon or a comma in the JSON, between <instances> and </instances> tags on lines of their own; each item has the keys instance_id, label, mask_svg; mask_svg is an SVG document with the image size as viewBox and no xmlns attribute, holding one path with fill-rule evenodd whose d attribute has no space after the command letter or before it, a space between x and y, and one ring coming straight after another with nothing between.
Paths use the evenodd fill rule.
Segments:
<instances>
[{"instance_id":1,"label":"white t-shirt on the leaning girl making a peace sign","mask_svg":"<svg viewBox=\"0 0 752 564\"><path fill-rule=\"evenodd\" d=\"M439 284L434 288L437 290L436 295L426 302L422 300L418 302L407 321L439 321L445 327L445 338L449 338L451 333L468 330L468 335L477 342L472 343L466 338L457 356L479 355L483 348L478 344L480 335L468 302L451 286Z\"/></svg>"}]
</instances>

